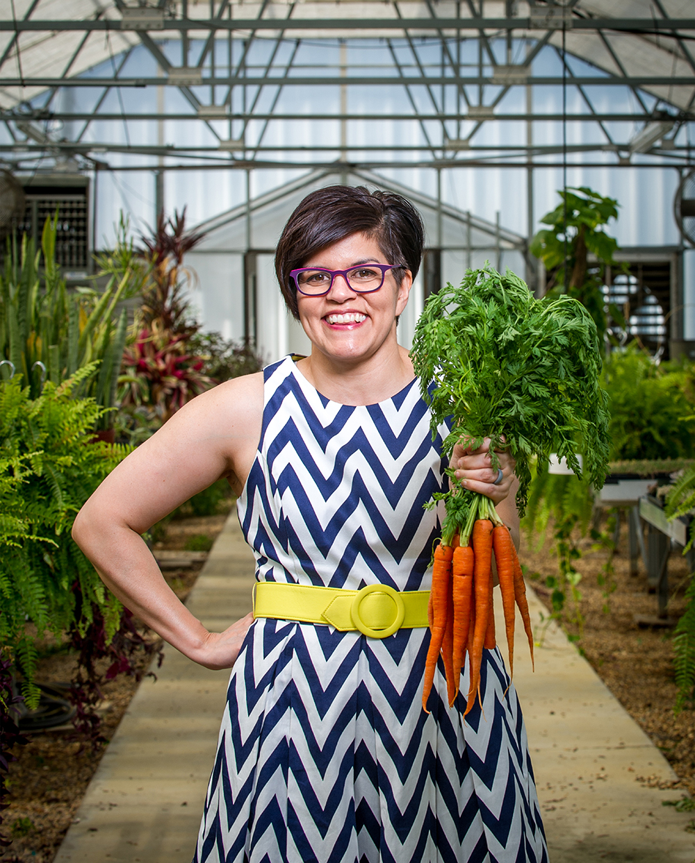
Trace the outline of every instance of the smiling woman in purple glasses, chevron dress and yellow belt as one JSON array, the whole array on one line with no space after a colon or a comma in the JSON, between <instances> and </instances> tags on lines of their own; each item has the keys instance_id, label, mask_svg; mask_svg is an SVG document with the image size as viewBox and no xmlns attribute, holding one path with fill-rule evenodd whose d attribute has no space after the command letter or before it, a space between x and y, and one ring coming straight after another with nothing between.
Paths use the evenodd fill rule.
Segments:
<instances>
[{"instance_id":1,"label":"smiling woman in purple glasses, chevron dress and yellow belt","mask_svg":"<svg viewBox=\"0 0 695 863\"><path fill-rule=\"evenodd\" d=\"M275 268L310 356L200 395L75 523L142 620L194 661L233 666L197 863L547 860L500 653L484 652L484 716L476 707L464 722L460 695L448 707L443 669L431 713L421 707L439 534L423 505L448 482L446 429L433 441L396 341L422 244L420 216L398 195L332 186L305 198ZM461 445L452 466L518 542L514 461L498 457L500 471L487 445ZM210 633L140 534L220 476L256 553L256 620Z\"/></svg>"}]
</instances>

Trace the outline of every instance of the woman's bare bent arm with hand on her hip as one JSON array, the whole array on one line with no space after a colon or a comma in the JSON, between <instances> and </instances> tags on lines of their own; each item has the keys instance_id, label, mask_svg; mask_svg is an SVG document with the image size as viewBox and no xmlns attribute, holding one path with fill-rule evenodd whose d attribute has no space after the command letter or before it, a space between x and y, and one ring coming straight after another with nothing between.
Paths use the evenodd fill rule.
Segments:
<instances>
[{"instance_id":1,"label":"woman's bare bent arm with hand on her hip","mask_svg":"<svg viewBox=\"0 0 695 863\"><path fill-rule=\"evenodd\" d=\"M115 595L208 668L230 668L252 618L209 633L168 587L141 534L224 476L240 492L261 435L262 375L199 395L114 469L80 510L73 539Z\"/></svg>"}]
</instances>

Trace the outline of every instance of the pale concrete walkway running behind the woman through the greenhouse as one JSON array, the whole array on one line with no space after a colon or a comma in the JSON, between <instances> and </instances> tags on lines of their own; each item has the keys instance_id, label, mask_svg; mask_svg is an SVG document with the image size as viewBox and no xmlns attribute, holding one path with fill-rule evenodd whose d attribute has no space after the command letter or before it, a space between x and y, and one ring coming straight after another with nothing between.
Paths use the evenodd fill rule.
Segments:
<instances>
[{"instance_id":1,"label":"pale concrete walkway running behind the woman through the greenhouse","mask_svg":"<svg viewBox=\"0 0 695 863\"><path fill-rule=\"evenodd\" d=\"M232 511L188 607L207 627L228 626L250 611L253 570ZM529 608L540 621L534 595ZM681 792L639 781L676 778L646 734L558 629L536 649L535 674L522 628L515 640L551 863L695 863L692 812L661 805ZM190 863L229 674L172 647L157 674L130 703L54 863Z\"/></svg>"}]
</instances>

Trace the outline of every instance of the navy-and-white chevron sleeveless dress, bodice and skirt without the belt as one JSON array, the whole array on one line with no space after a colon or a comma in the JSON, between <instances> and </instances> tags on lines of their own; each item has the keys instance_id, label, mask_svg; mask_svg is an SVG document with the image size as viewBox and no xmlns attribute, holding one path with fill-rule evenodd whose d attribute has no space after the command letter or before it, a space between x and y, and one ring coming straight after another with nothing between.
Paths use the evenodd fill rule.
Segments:
<instances>
[{"instance_id":1,"label":"navy-and-white chevron sleeveless dress, bodice and skirt without the belt","mask_svg":"<svg viewBox=\"0 0 695 863\"><path fill-rule=\"evenodd\" d=\"M264 375L238 501L256 578L429 589L439 518L423 504L446 480L417 383L353 407L325 399L291 357ZM483 711L464 722L443 666L422 709L428 644L426 628L370 639L256 620L231 673L194 863L547 863L500 653L484 651Z\"/></svg>"}]
</instances>

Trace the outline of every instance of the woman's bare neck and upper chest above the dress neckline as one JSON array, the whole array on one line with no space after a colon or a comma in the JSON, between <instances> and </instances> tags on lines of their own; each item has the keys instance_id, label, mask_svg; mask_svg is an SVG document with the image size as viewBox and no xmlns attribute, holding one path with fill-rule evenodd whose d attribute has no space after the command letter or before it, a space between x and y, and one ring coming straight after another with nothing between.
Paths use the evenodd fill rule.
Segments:
<instances>
[{"instance_id":1,"label":"woman's bare neck and upper chest above the dress neckline","mask_svg":"<svg viewBox=\"0 0 695 863\"><path fill-rule=\"evenodd\" d=\"M414 378L408 351L399 344L393 351L380 351L355 364L336 361L314 348L311 356L297 363L297 368L327 399L352 406L390 399Z\"/></svg>"}]
</instances>

